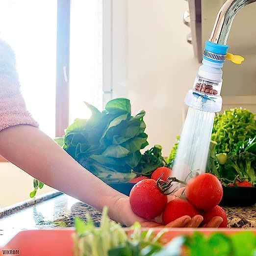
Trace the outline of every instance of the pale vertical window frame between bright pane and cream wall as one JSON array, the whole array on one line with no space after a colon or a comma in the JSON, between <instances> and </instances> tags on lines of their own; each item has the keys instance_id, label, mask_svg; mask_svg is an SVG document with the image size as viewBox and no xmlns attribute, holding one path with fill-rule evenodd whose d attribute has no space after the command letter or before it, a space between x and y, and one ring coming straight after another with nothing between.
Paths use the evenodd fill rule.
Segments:
<instances>
[{"instance_id":1,"label":"pale vertical window frame between bright pane and cream wall","mask_svg":"<svg viewBox=\"0 0 256 256\"><path fill-rule=\"evenodd\" d=\"M128 0L103 1L103 106L128 97Z\"/></svg>"}]
</instances>

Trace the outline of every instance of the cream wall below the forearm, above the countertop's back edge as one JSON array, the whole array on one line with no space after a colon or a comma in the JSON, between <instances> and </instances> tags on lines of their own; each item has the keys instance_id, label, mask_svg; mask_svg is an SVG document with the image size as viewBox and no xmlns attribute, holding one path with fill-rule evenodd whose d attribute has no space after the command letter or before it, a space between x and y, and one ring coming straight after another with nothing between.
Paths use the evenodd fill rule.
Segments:
<instances>
[{"instance_id":1,"label":"cream wall below the forearm, above the countertop's back edge","mask_svg":"<svg viewBox=\"0 0 256 256\"><path fill-rule=\"evenodd\" d=\"M29 199L29 193L33 190L33 178L17 166L0 162L0 207L16 204ZM52 191L44 186L39 189L37 195Z\"/></svg>"}]
</instances>

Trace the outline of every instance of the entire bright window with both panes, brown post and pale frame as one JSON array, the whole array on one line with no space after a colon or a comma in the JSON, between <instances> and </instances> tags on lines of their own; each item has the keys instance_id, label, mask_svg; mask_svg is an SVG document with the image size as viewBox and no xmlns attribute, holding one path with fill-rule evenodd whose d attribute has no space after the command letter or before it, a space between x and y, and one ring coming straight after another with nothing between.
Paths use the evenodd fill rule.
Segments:
<instances>
[{"instance_id":1,"label":"entire bright window with both panes, brown post and pale frame","mask_svg":"<svg viewBox=\"0 0 256 256\"><path fill-rule=\"evenodd\" d=\"M84 102L101 110L113 88L125 96L125 22L126 0L0 1L0 38L16 53L27 109L50 137L90 117Z\"/></svg>"}]
</instances>

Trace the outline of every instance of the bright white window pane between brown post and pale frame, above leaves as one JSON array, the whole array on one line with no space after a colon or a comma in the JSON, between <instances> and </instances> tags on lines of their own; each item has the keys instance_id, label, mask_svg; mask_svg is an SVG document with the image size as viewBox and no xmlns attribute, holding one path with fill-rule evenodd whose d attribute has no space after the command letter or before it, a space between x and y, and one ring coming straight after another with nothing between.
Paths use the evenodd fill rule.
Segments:
<instances>
[{"instance_id":1,"label":"bright white window pane between brown post and pale frame, above leaves","mask_svg":"<svg viewBox=\"0 0 256 256\"><path fill-rule=\"evenodd\" d=\"M102 110L102 0L73 0L70 16L70 122Z\"/></svg>"}]
</instances>

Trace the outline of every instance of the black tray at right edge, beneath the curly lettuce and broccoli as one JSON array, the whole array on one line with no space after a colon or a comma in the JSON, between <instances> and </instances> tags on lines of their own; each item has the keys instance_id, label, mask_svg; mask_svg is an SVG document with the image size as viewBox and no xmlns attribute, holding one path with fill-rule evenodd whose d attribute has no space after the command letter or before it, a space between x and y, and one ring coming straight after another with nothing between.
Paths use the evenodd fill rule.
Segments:
<instances>
[{"instance_id":1,"label":"black tray at right edge, beneath the curly lettuce and broccoli","mask_svg":"<svg viewBox=\"0 0 256 256\"><path fill-rule=\"evenodd\" d=\"M256 204L256 187L224 187L223 206L252 206Z\"/></svg>"}]
</instances>

